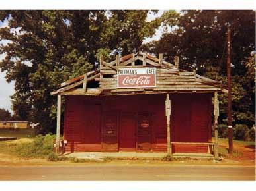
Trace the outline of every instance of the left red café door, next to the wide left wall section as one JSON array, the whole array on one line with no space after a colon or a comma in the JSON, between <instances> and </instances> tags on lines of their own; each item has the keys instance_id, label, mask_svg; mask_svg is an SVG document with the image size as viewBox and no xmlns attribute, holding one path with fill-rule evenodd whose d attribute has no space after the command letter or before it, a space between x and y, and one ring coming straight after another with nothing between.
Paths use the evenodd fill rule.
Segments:
<instances>
[{"instance_id":1,"label":"left red caf\u00e9 door, next to the wide left wall section","mask_svg":"<svg viewBox=\"0 0 256 191\"><path fill-rule=\"evenodd\" d=\"M116 111L104 112L101 138L103 151L118 151L118 113Z\"/></svg>"}]
</instances>

